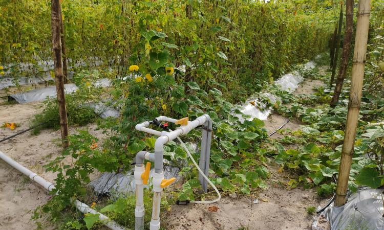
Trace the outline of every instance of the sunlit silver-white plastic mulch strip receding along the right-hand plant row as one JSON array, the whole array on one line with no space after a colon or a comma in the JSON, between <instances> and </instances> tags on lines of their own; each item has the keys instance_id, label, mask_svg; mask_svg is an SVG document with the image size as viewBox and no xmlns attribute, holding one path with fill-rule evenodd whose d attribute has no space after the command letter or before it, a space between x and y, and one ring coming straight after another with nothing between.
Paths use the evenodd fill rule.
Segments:
<instances>
[{"instance_id":1,"label":"sunlit silver-white plastic mulch strip receding along the right-hand plant row","mask_svg":"<svg viewBox=\"0 0 384 230\"><path fill-rule=\"evenodd\" d=\"M304 67L307 70L311 70L316 66L314 61L307 62ZM283 75L281 78L276 80L274 84L279 85L282 90L285 90L289 93L292 93L297 87L298 84L300 84L304 78L300 76L300 74L296 71ZM264 93L264 96L269 98L271 103L275 103L279 98L276 98L274 95L271 95L269 93ZM271 113L271 109L267 108L267 106L259 101L259 99L255 97L250 97L248 100L242 104L237 105L237 107L240 107L239 110L245 114L250 116L249 118L243 117L242 114L234 114L234 116L238 117L240 122L244 122L245 120L252 121L254 118L260 119L260 120L266 120Z\"/></svg>"}]
</instances>

